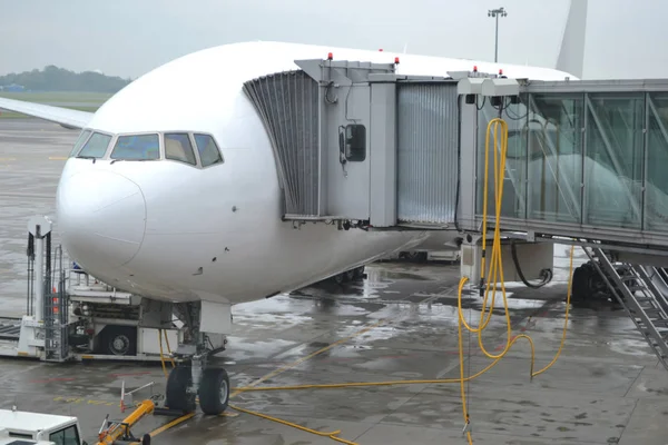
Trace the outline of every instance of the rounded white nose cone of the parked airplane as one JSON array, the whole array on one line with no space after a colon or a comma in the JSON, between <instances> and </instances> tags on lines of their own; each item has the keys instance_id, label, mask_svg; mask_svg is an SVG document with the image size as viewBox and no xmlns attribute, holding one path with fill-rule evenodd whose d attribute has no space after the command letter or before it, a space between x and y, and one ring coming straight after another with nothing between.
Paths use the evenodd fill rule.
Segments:
<instances>
[{"instance_id":1,"label":"rounded white nose cone of the parked airplane","mask_svg":"<svg viewBox=\"0 0 668 445\"><path fill-rule=\"evenodd\" d=\"M124 176L98 170L63 178L57 207L62 245L85 268L125 265L141 246L146 202Z\"/></svg>"}]
</instances>

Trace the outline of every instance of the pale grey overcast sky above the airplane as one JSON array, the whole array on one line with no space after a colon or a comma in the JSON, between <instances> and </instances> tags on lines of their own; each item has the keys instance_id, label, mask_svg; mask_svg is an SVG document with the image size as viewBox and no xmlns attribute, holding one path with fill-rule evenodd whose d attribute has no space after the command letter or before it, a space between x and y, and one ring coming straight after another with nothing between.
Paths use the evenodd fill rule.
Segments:
<instances>
[{"instance_id":1,"label":"pale grey overcast sky above the airplane","mask_svg":"<svg viewBox=\"0 0 668 445\"><path fill-rule=\"evenodd\" d=\"M580 1L580 0L573 0ZM397 4L392 7L391 4ZM553 68L569 0L0 0L0 75L56 65L136 78L217 44L278 40ZM589 0L584 78L668 77L668 2Z\"/></svg>"}]
</instances>

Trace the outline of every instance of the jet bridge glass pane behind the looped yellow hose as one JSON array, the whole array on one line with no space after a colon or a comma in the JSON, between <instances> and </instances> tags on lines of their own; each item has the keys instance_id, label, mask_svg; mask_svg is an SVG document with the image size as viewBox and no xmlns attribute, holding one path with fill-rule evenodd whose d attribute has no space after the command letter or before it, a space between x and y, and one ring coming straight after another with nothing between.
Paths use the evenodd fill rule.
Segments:
<instances>
[{"instance_id":1,"label":"jet bridge glass pane behind the looped yellow hose","mask_svg":"<svg viewBox=\"0 0 668 445\"><path fill-rule=\"evenodd\" d=\"M480 106L479 106L480 107ZM505 159L505 172L503 179L503 196L501 201L501 216L511 218L525 217L527 195L527 139L523 135L523 126L527 120L527 107L523 103L507 103L503 119L508 123L508 147ZM482 215L484 209L484 175L485 175L485 144L489 122L499 117L499 109L493 107L489 100L478 112L478 196L477 211ZM488 217L495 215L494 198L494 125L490 130L490 144L488 154ZM501 160L501 126L497 128L497 159Z\"/></svg>"}]
</instances>

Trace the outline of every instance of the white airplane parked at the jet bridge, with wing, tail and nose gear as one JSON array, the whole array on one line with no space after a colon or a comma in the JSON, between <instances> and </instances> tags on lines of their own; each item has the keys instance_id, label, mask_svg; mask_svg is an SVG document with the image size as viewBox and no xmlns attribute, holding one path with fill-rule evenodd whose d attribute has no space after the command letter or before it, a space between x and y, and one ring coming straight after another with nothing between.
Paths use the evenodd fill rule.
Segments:
<instances>
[{"instance_id":1,"label":"white airplane parked at the jet bridge, with wing, tail and nose gear","mask_svg":"<svg viewBox=\"0 0 668 445\"><path fill-rule=\"evenodd\" d=\"M95 113L0 98L0 108L80 129L57 189L63 248L87 273L141 295L184 323L167 405L218 415L229 377L232 306L299 289L399 250L456 243L456 233L341 230L282 220L272 144L245 81L295 70L295 60L391 63L400 75L448 71L578 79L586 1L570 6L558 69L284 42L204 49L141 76ZM574 23L574 24L573 24Z\"/></svg>"}]
</instances>

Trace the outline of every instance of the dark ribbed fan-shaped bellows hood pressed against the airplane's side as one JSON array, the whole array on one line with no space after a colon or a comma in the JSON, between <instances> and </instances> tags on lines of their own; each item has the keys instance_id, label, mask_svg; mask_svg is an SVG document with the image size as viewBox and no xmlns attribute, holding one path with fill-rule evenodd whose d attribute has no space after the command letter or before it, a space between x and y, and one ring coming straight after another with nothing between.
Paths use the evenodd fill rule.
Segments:
<instances>
[{"instance_id":1,"label":"dark ribbed fan-shaped bellows hood pressed against the airplane's side","mask_svg":"<svg viewBox=\"0 0 668 445\"><path fill-rule=\"evenodd\" d=\"M318 211L318 86L303 70L278 72L244 83L269 135L285 214Z\"/></svg>"}]
</instances>

